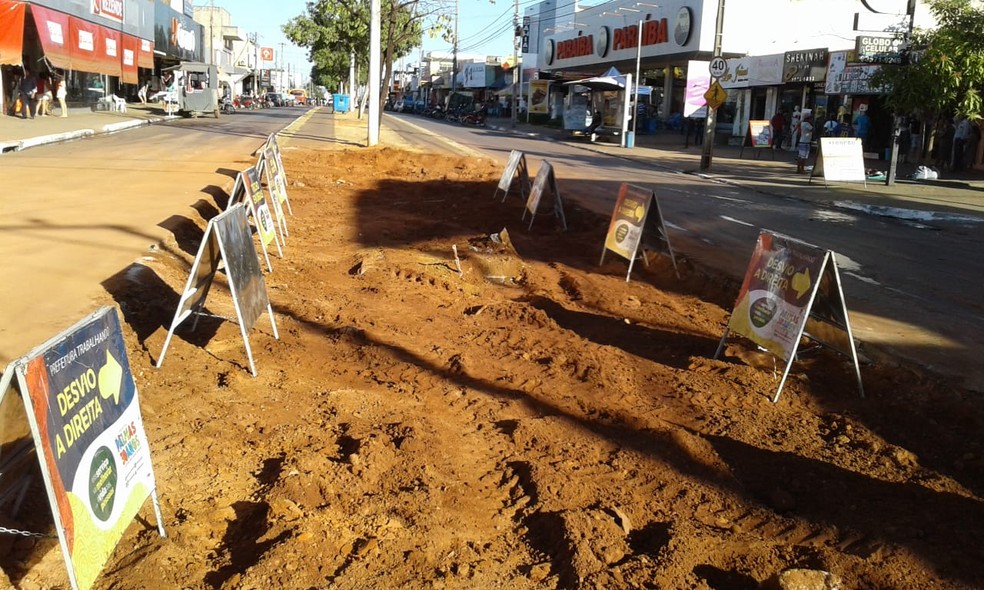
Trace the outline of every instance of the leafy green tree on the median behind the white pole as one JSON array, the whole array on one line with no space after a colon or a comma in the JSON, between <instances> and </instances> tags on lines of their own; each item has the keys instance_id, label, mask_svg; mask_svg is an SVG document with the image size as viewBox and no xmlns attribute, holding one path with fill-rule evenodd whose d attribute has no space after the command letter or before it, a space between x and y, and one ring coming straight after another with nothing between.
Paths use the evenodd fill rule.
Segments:
<instances>
[{"instance_id":1,"label":"leafy green tree on the median behind the white pole","mask_svg":"<svg viewBox=\"0 0 984 590\"><path fill-rule=\"evenodd\" d=\"M380 0L382 9L382 64L380 100L393 76L393 63L420 44L425 23L440 27L448 0ZM283 31L287 38L307 47L314 67L311 79L329 88L348 78L354 53L360 72L369 63L369 0L318 0L308 2L307 12L294 17ZM355 85L365 80L354 81ZM382 106L382 103L380 103ZM382 109L380 108L380 112Z\"/></svg>"}]
</instances>

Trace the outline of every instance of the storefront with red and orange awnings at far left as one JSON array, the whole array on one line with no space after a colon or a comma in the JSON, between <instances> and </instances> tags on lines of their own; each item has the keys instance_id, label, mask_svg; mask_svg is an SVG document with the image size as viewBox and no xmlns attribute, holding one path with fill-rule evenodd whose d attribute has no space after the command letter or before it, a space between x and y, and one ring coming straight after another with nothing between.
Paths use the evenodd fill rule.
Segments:
<instances>
[{"instance_id":1,"label":"storefront with red and orange awnings at far left","mask_svg":"<svg viewBox=\"0 0 984 590\"><path fill-rule=\"evenodd\" d=\"M137 0L0 0L4 112L24 67L64 76L69 102L135 95L153 68L151 14Z\"/></svg>"}]
</instances>

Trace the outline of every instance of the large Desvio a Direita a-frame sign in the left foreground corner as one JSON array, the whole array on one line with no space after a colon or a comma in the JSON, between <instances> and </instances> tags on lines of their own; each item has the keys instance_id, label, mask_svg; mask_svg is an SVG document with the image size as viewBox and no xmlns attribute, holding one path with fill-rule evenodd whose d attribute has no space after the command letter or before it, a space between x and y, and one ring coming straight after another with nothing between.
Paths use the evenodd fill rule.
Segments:
<instances>
[{"instance_id":1,"label":"large Desvio a Direita a-frame sign in the left foreground corner","mask_svg":"<svg viewBox=\"0 0 984 590\"><path fill-rule=\"evenodd\" d=\"M14 361L68 578L88 590L149 497L164 526L137 386L116 310L104 307Z\"/></svg>"}]
</instances>

